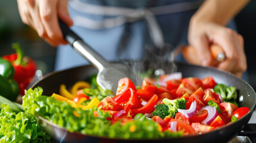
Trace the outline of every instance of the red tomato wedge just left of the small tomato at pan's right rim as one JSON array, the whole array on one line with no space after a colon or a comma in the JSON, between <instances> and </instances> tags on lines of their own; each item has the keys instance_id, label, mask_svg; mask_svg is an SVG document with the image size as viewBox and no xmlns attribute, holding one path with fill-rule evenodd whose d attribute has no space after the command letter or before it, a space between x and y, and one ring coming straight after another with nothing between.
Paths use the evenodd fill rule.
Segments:
<instances>
[{"instance_id":1,"label":"red tomato wedge just left of the small tomato at pan's right rim","mask_svg":"<svg viewBox=\"0 0 256 143\"><path fill-rule=\"evenodd\" d=\"M226 123L229 123L233 114L233 111L235 111L238 106L236 106L235 104L232 104L230 102L222 102L220 104L218 104L218 107L220 107L220 111L224 117L224 121Z\"/></svg>"}]
</instances>

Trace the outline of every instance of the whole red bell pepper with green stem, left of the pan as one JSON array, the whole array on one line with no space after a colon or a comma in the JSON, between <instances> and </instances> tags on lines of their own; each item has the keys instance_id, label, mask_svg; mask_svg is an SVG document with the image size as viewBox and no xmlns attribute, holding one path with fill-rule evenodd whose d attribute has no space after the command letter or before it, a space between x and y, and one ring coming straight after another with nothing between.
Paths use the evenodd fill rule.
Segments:
<instances>
[{"instance_id":1,"label":"whole red bell pepper with green stem, left of the pan","mask_svg":"<svg viewBox=\"0 0 256 143\"><path fill-rule=\"evenodd\" d=\"M18 83L20 94L24 95L24 89L27 88L35 75L36 64L31 58L24 57L23 49L18 43L13 43L12 47L16 50L16 53L5 55L2 58L10 61L13 65L15 70L14 80Z\"/></svg>"}]
</instances>

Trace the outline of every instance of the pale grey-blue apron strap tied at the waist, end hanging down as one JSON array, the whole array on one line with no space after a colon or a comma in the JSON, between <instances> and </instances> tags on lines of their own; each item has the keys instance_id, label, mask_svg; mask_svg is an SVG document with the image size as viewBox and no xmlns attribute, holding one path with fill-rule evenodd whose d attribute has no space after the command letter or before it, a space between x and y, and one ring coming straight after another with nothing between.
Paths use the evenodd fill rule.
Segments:
<instances>
[{"instance_id":1,"label":"pale grey-blue apron strap tied at the waist, end hanging down","mask_svg":"<svg viewBox=\"0 0 256 143\"><path fill-rule=\"evenodd\" d=\"M107 29L121 26L125 23L132 23L138 20L145 20L149 29L149 35L156 47L162 48L164 36L155 15L164 15L171 13L179 13L182 11L195 10L200 7L202 0L194 2L180 2L177 4L164 5L151 8L124 8L124 7L107 7L101 5L85 4L80 1L69 1L69 5L76 11L86 14L94 14L101 16L110 16L104 20L92 20L91 18L76 15L73 20L76 26L86 27L88 29Z\"/></svg>"}]
</instances>

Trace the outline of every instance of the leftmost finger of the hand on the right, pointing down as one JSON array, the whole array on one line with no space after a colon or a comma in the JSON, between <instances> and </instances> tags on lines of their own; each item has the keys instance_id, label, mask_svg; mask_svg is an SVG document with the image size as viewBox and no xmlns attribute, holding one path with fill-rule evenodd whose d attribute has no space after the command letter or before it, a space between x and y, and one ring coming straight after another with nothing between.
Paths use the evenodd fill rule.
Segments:
<instances>
[{"instance_id":1,"label":"leftmost finger of the hand on the right, pointing down","mask_svg":"<svg viewBox=\"0 0 256 143\"><path fill-rule=\"evenodd\" d=\"M197 52L197 57L201 60L203 66L209 66L211 63L211 52L209 51L209 41L206 35L201 35L193 39L190 43Z\"/></svg>"}]
</instances>

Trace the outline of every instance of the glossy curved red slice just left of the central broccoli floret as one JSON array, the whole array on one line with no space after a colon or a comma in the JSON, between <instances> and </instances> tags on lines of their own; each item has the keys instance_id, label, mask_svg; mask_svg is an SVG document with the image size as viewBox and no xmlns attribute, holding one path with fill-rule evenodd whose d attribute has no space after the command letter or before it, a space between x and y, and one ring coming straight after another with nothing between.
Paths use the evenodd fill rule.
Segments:
<instances>
[{"instance_id":1,"label":"glossy curved red slice just left of the central broccoli floret","mask_svg":"<svg viewBox=\"0 0 256 143\"><path fill-rule=\"evenodd\" d=\"M153 97L149 100L149 102L147 102L143 107L141 108L137 108L137 109L133 109L132 112L134 112L135 114L138 113L151 113L153 108L156 105L156 102L158 102L158 95L153 95Z\"/></svg>"}]
</instances>

